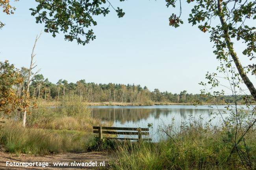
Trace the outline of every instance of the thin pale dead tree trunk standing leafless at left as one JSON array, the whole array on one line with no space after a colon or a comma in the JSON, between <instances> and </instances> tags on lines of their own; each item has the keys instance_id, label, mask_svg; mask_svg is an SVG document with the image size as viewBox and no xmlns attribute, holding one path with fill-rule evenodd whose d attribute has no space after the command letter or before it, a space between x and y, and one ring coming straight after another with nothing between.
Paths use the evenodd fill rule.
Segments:
<instances>
[{"instance_id":1,"label":"thin pale dead tree trunk standing leafless at left","mask_svg":"<svg viewBox=\"0 0 256 170\"><path fill-rule=\"evenodd\" d=\"M34 43L34 46L33 46L33 49L32 49L30 68L29 68L29 71L28 71L27 91L26 91L25 94L23 94L23 95L25 95L25 96L24 96L24 99L25 99L24 102L27 102L26 100L29 98L29 86L30 86L30 81L31 81L31 79L33 79L33 77L30 79L30 76L31 76L32 69L36 67L36 65L34 66L35 62L33 63L33 58L35 57L34 50L35 50L35 45L36 45L36 43L37 43L37 40L40 38L41 34L42 34L42 33L40 33L40 35L35 38L35 43ZM39 71L40 71L40 69L39 69L33 76L35 76ZM24 113L23 113L23 122L22 122L22 126L23 126L23 127L26 126L27 110L28 110L28 108L25 107L25 108L24 108Z\"/></svg>"}]
</instances>

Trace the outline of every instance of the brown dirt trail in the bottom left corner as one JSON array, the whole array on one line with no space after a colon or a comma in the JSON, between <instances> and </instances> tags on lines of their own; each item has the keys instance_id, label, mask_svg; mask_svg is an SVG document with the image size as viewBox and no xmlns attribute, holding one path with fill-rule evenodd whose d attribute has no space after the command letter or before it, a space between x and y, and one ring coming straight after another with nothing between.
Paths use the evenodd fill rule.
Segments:
<instances>
[{"instance_id":1,"label":"brown dirt trail in the bottom left corner","mask_svg":"<svg viewBox=\"0 0 256 170\"><path fill-rule=\"evenodd\" d=\"M105 166L107 166L107 162L112 159L113 155L108 153L102 153L102 152L87 152L87 153L65 153L65 154L56 154L56 155L46 155L46 156L29 156L20 154L19 157L15 156L15 154L8 154L5 152L0 152L0 170L41 170L41 169L47 169L47 170L89 170L93 169L95 167L85 167L85 166L54 166L53 163L89 163L92 161L92 163L95 163L97 161L97 165L99 166L100 163L103 163L105 161ZM48 167L40 167L40 166L33 166L33 167L27 167L25 166L6 166L6 161L9 162L40 162L40 163L49 163L50 166Z\"/></svg>"}]
</instances>

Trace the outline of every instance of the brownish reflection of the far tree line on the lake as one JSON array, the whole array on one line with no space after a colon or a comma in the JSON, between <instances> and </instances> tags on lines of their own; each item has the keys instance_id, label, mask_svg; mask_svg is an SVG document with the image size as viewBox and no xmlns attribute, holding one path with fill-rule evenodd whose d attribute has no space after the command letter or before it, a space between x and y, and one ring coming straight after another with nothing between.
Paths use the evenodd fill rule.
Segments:
<instances>
[{"instance_id":1,"label":"brownish reflection of the far tree line on the lake","mask_svg":"<svg viewBox=\"0 0 256 170\"><path fill-rule=\"evenodd\" d=\"M156 106L155 108L131 108L120 106L97 106L91 107L92 117L96 119L102 119L103 121L114 121L119 122L120 124L126 124L127 122L139 122L141 120L147 120L149 117L154 117L154 119L159 119L160 117L177 117L179 116L181 119L188 119L189 115L204 115L207 117L211 116L212 109L206 107L195 107L195 106L183 106L183 107L174 107L174 106L166 106L166 108L162 108Z\"/></svg>"}]
</instances>

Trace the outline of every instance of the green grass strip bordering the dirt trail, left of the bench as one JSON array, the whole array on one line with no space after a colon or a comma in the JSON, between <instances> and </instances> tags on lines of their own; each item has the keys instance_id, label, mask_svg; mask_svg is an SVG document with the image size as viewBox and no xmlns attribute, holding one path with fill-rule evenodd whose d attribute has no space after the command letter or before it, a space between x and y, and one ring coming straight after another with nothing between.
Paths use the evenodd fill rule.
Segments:
<instances>
[{"instance_id":1,"label":"green grass strip bordering the dirt trail, left of the bench","mask_svg":"<svg viewBox=\"0 0 256 170\"><path fill-rule=\"evenodd\" d=\"M20 123L7 121L0 132L0 144L6 151L24 154L50 154L84 150L82 133L57 133L52 130L23 128Z\"/></svg>"}]
</instances>

